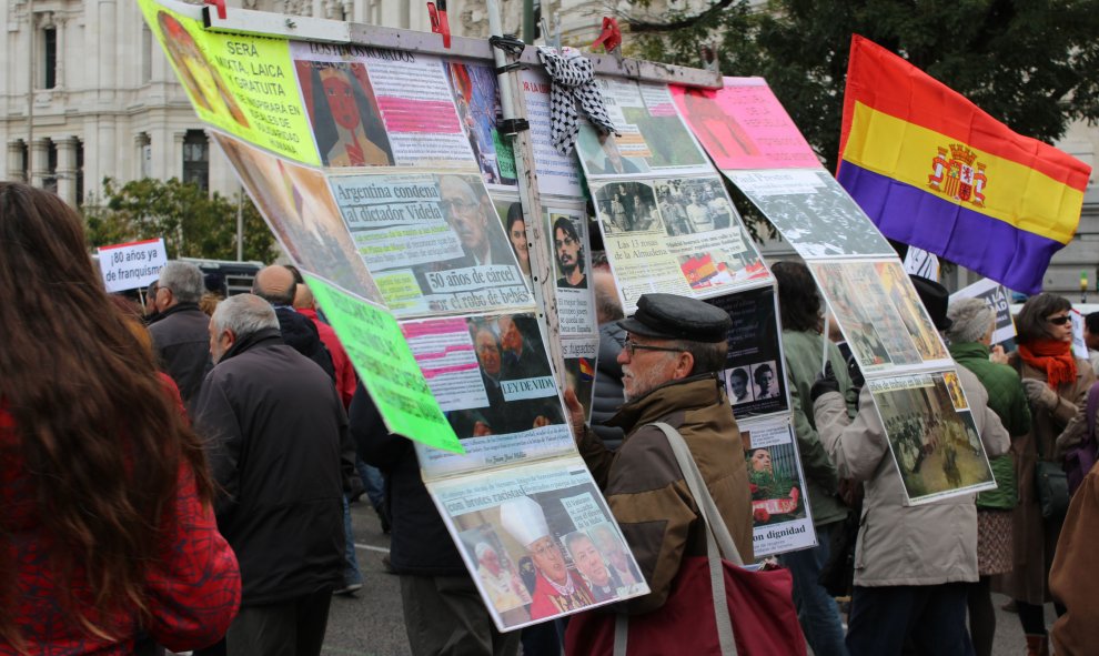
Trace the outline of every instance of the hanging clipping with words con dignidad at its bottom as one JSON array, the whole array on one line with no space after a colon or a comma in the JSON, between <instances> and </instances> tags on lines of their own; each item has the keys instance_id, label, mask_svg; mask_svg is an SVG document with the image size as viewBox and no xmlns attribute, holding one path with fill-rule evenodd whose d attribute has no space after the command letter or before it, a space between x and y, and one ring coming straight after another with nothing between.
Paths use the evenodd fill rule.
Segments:
<instances>
[{"instance_id":1,"label":"hanging clipping with words con dignidad at its bottom","mask_svg":"<svg viewBox=\"0 0 1099 656\"><path fill-rule=\"evenodd\" d=\"M752 491L756 558L817 544L805 501L805 477L788 417L742 422L740 441Z\"/></svg>"}]
</instances>

